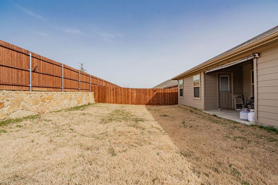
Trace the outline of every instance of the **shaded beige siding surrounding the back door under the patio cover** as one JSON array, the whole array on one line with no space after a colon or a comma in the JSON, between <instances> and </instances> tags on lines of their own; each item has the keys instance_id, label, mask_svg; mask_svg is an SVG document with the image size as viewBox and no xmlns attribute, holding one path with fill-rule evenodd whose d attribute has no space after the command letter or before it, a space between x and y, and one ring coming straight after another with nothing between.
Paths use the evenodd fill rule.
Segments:
<instances>
[{"instance_id":1,"label":"shaded beige siding surrounding the back door under the patio cover","mask_svg":"<svg viewBox=\"0 0 278 185\"><path fill-rule=\"evenodd\" d=\"M243 93L242 67L232 66L206 74L206 107L205 109L218 109L218 73L233 72L234 94ZM232 104L233 105L233 104Z\"/></svg>"}]
</instances>

